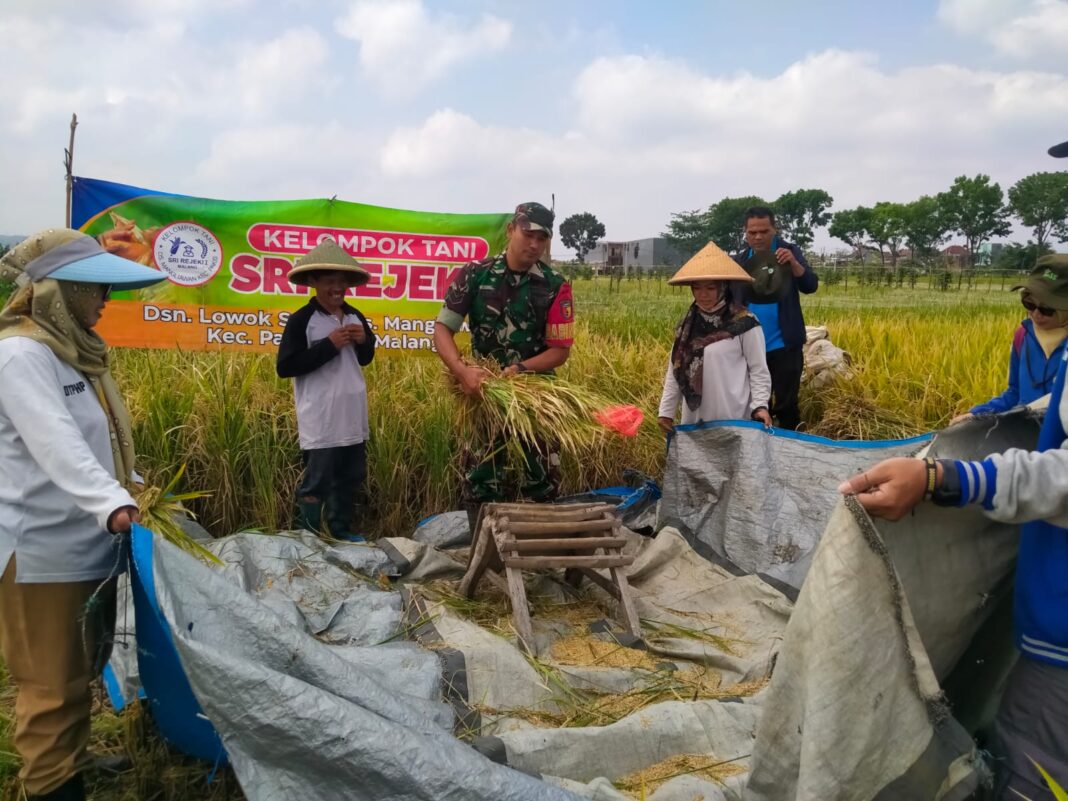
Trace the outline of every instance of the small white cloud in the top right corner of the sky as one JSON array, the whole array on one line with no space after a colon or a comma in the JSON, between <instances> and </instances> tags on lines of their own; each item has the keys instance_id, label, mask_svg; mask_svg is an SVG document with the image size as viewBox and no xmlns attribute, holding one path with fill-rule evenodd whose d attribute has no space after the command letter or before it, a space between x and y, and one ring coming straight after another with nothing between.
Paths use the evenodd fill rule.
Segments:
<instances>
[{"instance_id":1,"label":"small white cloud in the top right corner of the sky","mask_svg":"<svg viewBox=\"0 0 1068 801\"><path fill-rule=\"evenodd\" d=\"M1053 69L1068 61L1068 0L941 0L938 18L1001 56Z\"/></svg>"}]
</instances>

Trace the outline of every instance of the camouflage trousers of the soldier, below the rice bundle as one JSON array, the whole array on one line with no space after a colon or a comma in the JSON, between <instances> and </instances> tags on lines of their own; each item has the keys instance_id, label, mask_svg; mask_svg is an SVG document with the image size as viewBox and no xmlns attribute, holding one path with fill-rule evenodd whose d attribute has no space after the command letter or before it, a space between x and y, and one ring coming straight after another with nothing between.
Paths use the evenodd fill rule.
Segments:
<instances>
[{"instance_id":1,"label":"camouflage trousers of the soldier, below the rice bundle","mask_svg":"<svg viewBox=\"0 0 1068 801\"><path fill-rule=\"evenodd\" d=\"M489 447L466 447L465 503L509 501L517 496L529 501L555 500L560 493L560 453L556 443L538 442L537 447L523 447L521 476L513 475L506 462L503 440L493 442Z\"/></svg>"}]
</instances>

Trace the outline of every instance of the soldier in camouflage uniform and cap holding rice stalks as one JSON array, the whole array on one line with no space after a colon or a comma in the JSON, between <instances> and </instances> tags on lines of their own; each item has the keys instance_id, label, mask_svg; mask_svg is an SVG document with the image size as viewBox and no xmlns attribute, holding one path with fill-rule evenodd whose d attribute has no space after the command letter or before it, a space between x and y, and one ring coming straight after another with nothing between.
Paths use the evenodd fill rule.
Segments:
<instances>
[{"instance_id":1,"label":"soldier in camouflage uniform and cap holding rice stalks","mask_svg":"<svg viewBox=\"0 0 1068 801\"><path fill-rule=\"evenodd\" d=\"M467 317L471 349L504 367L505 375L552 373L570 352L575 309L571 285L543 261L552 236L553 213L540 203L522 203L508 223L508 245L497 256L471 262L453 279L438 314L434 342L438 356L465 393L477 394L486 371L466 364L454 335ZM504 500L500 443L478 443L465 456L464 501L474 518L483 503ZM551 501L557 492L552 449L532 449L520 493ZM487 455L489 454L489 455Z\"/></svg>"}]
</instances>

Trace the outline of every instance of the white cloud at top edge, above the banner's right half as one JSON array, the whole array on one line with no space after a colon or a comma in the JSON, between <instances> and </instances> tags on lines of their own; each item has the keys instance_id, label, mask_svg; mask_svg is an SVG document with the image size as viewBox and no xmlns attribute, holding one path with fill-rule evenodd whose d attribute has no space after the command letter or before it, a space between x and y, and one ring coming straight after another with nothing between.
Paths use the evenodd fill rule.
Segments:
<instances>
[{"instance_id":1,"label":"white cloud at top edge, above the banner's right half","mask_svg":"<svg viewBox=\"0 0 1068 801\"><path fill-rule=\"evenodd\" d=\"M387 92L411 93L461 62L507 46L512 23L489 14L466 23L422 0L358 0L335 22L360 45L360 66Z\"/></svg>"}]
</instances>

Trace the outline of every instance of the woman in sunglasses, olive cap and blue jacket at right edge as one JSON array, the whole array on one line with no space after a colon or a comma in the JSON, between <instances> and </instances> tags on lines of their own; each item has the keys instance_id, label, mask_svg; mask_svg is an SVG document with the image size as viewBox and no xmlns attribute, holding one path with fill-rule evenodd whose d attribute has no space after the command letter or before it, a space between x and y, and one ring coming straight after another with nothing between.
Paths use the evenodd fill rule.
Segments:
<instances>
[{"instance_id":1,"label":"woman in sunglasses, olive cap and blue jacket at right edge","mask_svg":"<svg viewBox=\"0 0 1068 801\"><path fill-rule=\"evenodd\" d=\"M1026 406L1053 391L1068 337L1068 257L1063 253L1042 256L1026 282L1012 289L1023 290L1020 302L1027 316L1012 335L1008 388L957 415L951 425L975 414L996 414Z\"/></svg>"}]
</instances>

